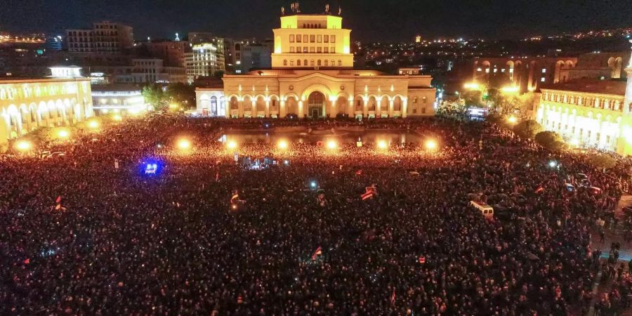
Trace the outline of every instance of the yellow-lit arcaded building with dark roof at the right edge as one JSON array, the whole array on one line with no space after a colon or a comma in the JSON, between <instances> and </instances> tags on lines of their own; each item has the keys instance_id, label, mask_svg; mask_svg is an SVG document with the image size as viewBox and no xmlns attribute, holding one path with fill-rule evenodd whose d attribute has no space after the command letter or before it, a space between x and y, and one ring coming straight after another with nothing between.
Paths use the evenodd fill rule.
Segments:
<instances>
[{"instance_id":1,"label":"yellow-lit arcaded building with dark roof at the right edge","mask_svg":"<svg viewBox=\"0 0 632 316\"><path fill-rule=\"evenodd\" d=\"M535 119L577 147L632 154L632 65L627 81L573 79L541 88Z\"/></svg>"}]
</instances>

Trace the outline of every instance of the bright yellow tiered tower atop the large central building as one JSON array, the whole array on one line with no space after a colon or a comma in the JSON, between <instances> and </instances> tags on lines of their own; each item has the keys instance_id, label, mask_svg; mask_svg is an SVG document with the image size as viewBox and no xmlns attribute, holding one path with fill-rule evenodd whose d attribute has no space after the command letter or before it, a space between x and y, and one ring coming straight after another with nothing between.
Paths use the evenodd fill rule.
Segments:
<instances>
[{"instance_id":1,"label":"bright yellow tiered tower atop the large central building","mask_svg":"<svg viewBox=\"0 0 632 316\"><path fill-rule=\"evenodd\" d=\"M292 13L282 15L281 27L273 30L272 68L353 68L351 29L343 29L341 16L329 6L322 14L303 14L297 4Z\"/></svg>"}]
</instances>

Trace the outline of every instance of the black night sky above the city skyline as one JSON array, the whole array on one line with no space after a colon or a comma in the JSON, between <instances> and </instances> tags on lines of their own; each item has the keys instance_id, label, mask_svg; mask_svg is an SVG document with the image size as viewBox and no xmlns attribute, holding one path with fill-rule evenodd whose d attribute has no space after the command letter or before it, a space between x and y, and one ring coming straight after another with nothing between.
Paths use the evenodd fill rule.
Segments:
<instances>
[{"instance_id":1,"label":"black night sky above the city skyline","mask_svg":"<svg viewBox=\"0 0 632 316\"><path fill-rule=\"evenodd\" d=\"M213 32L236 39L271 38L289 0L0 0L0 32L56 32L112 20L136 39L175 32ZM586 29L632 27L630 0L304 0L303 13L338 11L362 41L482 37L516 39Z\"/></svg>"}]
</instances>

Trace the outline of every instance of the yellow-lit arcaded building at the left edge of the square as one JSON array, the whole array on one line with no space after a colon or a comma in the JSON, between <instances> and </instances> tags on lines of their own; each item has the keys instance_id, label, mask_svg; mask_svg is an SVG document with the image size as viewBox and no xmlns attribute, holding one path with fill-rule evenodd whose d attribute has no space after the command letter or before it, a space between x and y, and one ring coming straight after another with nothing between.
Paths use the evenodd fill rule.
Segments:
<instances>
[{"instance_id":1,"label":"yellow-lit arcaded building at the left edge of the square","mask_svg":"<svg viewBox=\"0 0 632 316\"><path fill-rule=\"evenodd\" d=\"M0 145L93 116L90 79L0 80Z\"/></svg>"}]
</instances>

